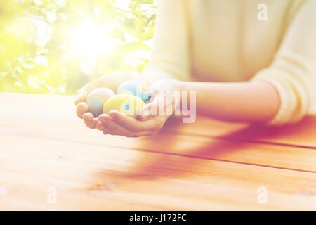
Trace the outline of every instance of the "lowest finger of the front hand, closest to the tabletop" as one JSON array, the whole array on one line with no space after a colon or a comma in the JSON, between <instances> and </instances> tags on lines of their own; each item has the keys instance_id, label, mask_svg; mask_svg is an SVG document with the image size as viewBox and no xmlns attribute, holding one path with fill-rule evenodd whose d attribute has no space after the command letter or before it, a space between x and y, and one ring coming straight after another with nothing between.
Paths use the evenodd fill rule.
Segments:
<instances>
[{"instance_id":1,"label":"lowest finger of the front hand, closest to the tabletop","mask_svg":"<svg viewBox=\"0 0 316 225\"><path fill-rule=\"evenodd\" d=\"M156 134L157 132L154 131L139 131L139 132L134 132L134 131L129 131L125 127L122 127L120 124L115 122L112 117L110 116L105 116L103 117L103 124L106 127L106 129L111 129L114 131L116 134L121 135L121 136L127 136L127 137L139 137L139 136L148 136L152 134Z\"/></svg>"}]
</instances>

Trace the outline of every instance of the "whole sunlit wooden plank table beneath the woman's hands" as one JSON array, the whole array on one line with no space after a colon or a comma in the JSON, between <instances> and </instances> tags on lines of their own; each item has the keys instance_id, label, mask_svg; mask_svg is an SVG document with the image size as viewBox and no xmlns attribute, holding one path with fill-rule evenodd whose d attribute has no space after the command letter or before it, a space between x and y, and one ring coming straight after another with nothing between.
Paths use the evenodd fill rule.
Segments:
<instances>
[{"instance_id":1,"label":"whole sunlit wooden plank table beneath the woman's hands","mask_svg":"<svg viewBox=\"0 0 316 225\"><path fill-rule=\"evenodd\" d=\"M316 210L316 117L131 139L86 128L72 96L0 94L0 134L0 210Z\"/></svg>"}]
</instances>

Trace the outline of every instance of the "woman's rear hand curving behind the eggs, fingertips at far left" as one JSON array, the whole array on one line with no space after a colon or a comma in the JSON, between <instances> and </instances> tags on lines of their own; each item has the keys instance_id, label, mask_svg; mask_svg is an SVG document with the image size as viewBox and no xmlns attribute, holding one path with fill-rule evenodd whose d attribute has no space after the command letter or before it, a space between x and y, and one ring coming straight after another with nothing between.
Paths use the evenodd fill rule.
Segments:
<instances>
[{"instance_id":1,"label":"woman's rear hand curving behind the eggs, fingertips at far left","mask_svg":"<svg viewBox=\"0 0 316 225\"><path fill-rule=\"evenodd\" d=\"M116 93L117 88L119 87L121 83L126 82L128 80L132 80L132 79L136 79L140 82L148 84L145 79L142 79L140 77L140 75L120 72L120 73L105 75L96 80L93 80L92 82L86 84L85 86L83 86L81 89L77 91L77 94L74 100L75 105L77 105L77 109L76 109L77 116L81 119L84 119L84 123L86 124L86 127L95 129L98 123L98 118L95 118L92 113L88 112L88 105L86 103L86 96L88 95L88 93L98 87L107 87L108 89L112 89L112 91Z\"/></svg>"}]
</instances>

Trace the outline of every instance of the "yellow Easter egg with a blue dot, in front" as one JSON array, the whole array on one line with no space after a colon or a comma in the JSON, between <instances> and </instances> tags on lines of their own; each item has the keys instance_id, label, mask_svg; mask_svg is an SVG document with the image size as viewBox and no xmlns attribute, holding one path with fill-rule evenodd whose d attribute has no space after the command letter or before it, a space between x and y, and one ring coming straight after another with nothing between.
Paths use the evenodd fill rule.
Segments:
<instances>
[{"instance_id":1,"label":"yellow Easter egg with a blue dot, in front","mask_svg":"<svg viewBox=\"0 0 316 225\"><path fill-rule=\"evenodd\" d=\"M145 103L138 97L130 94L118 94L109 98L103 107L103 113L110 113L111 110L117 110L125 115L135 117L140 108Z\"/></svg>"}]
</instances>

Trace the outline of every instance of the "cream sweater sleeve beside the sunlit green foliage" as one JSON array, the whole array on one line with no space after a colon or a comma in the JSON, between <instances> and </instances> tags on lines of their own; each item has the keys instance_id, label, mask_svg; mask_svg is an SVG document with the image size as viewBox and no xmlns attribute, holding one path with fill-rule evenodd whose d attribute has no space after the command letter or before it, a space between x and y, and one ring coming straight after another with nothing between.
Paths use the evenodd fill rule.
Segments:
<instances>
[{"instance_id":1,"label":"cream sweater sleeve beside the sunlit green foliage","mask_svg":"<svg viewBox=\"0 0 316 225\"><path fill-rule=\"evenodd\" d=\"M163 78L188 80L188 45L185 1L157 0L154 44L142 75L151 82Z\"/></svg>"}]
</instances>

